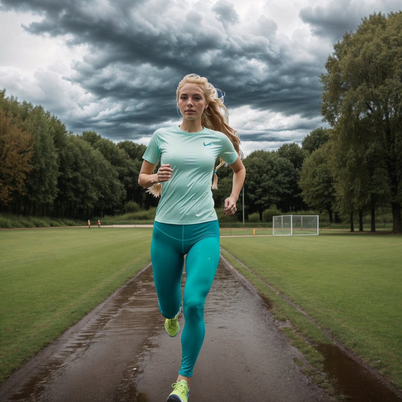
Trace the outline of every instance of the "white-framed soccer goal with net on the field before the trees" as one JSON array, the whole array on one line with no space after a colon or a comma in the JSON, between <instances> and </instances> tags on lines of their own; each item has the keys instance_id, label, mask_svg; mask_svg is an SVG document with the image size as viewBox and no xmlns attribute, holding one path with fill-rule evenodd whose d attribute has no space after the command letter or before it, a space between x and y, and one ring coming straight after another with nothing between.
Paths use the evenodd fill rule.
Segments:
<instances>
[{"instance_id":1,"label":"white-framed soccer goal with net on the field before the trees","mask_svg":"<svg viewBox=\"0 0 402 402\"><path fill-rule=\"evenodd\" d=\"M318 234L318 215L280 215L272 218L274 236L306 236Z\"/></svg>"}]
</instances>

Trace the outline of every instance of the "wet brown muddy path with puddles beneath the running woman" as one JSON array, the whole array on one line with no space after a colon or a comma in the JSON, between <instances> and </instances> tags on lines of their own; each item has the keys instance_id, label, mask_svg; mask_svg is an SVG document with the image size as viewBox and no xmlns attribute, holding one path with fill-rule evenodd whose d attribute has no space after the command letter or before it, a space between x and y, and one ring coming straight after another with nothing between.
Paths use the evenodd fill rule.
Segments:
<instances>
[{"instance_id":1,"label":"wet brown muddy path with puddles beneath the running woman","mask_svg":"<svg viewBox=\"0 0 402 402\"><path fill-rule=\"evenodd\" d=\"M14 373L1 386L0 400L166 401L180 367L180 336L166 334L157 306L148 267ZM183 315L179 322L184 325ZM222 263L205 304L205 325L190 402L331 400L293 363L294 357L302 357L287 343L266 302ZM355 366L350 366L349 378L337 377L349 363L336 363L339 356L328 348L323 350L328 369L349 401L402 400L392 392L384 394L388 390L381 388L381 381L373 391L373 377L364 385L354 377ZM331 362L339 367L331 368ZM345 383L350 390L369 389L353 394L342 388Z\"/></svg>"}]
</instances>

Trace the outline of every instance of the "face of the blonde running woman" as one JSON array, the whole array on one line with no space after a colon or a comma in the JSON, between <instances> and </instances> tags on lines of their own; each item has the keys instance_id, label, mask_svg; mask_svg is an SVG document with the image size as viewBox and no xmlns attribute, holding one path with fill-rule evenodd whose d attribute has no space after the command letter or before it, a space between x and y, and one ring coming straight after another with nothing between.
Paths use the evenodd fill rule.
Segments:
<instances>
[{"instance_id":1,"label":"face of the blonde running woman","mask_svg":"<svg viewBox=\"0 0 402 402\"><path fill-rule=\"evenodd\" d=\"M184 84L178 94L180 113L187 120L201 119L201 115L208 107L204 91L196 84Z\"/></svg>"}]
</instances>

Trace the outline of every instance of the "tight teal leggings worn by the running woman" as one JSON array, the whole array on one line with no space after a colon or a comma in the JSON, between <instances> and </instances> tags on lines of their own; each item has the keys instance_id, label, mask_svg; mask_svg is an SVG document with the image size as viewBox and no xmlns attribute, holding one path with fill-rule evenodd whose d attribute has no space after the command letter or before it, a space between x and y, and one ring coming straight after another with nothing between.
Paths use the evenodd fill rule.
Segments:
<instances>
[{"instance_id":1,"label":"tight teal leggings worn by the running woman","mask_svg":"<svg viewBox=\"0 0 402 402\"><path fill-rule=\"evenodd\" d=\"M181 335L182 359L178 373L191 377L205 336L205 298L219 263L217 220L195 225L154 222L151 243L152 271L159 309L165 318L173 318L180 308L180 281L185 254L185 326Z\"/></svg>"}]
</instances>

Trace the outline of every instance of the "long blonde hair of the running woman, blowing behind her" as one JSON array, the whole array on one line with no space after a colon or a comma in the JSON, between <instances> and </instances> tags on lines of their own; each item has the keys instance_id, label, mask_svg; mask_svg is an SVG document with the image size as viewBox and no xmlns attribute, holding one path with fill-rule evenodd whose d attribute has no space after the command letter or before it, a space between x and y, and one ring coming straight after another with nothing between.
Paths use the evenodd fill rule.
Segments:
<instances>
[{"instance_id":1,"label":"long blonde hair of the running woman, blowing behind her","mask_svg":"<svg viewBox=\"0 0 402 402\"><path fill-rule=\"evenodd\" d=\"M240 158L243 158L243 153L240 150L239 134L228 124L229 113L223 102L225 93L215 88L210 82L208 82L207 78L200 77L198 74L187 74L187 76L185 76L183 80L178 83L176 90L177 102L180 90L185 84L198 85L204 92L205 101L208 102L208 107L204 110L204 113L201 116L201 124L203 125L203 127L224 133L232 142L234 149L240 155ZM220 97L218 91L221 94ZM220 158L218 166L216 166L214 169L213 183L211 186L213 190L216 190L218 188L218 176L216 175L216 171L224 164L226 164L226 162L222 158Z\"/></svg>"}]
</instances>

